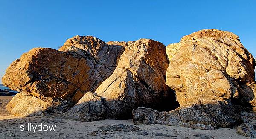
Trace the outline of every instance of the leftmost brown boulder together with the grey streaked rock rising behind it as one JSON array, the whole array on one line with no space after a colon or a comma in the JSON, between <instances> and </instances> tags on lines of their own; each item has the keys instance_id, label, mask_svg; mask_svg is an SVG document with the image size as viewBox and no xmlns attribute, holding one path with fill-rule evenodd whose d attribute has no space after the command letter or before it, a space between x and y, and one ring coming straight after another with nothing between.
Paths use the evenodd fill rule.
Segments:
<instances>
[{"instance_id":1,"label":"leftmost brown boulder together with the grey streaked rock rising behind it","mask_svg":"<svg viewBox=\"0 0 256 139\"><path fill-rule=\"evenodd\" d=\"M59 51L34 48L23 54L6 69L2 81L24 96L47 103L52 113L62 113L78 102L84 92L94 91L111 75L123 50L123 46L108 46L92 36L75 36ZM31 112L25 107L15 111L15 107L9 111L14 115L27 116Z\"/></svg>"}]
</instances>

